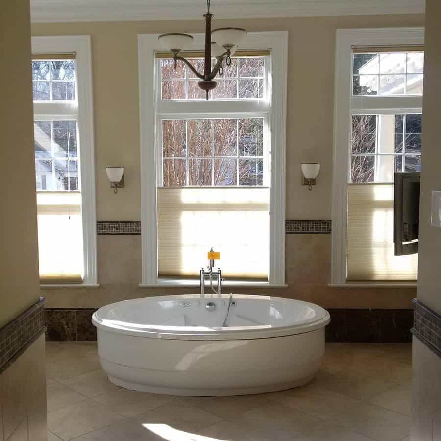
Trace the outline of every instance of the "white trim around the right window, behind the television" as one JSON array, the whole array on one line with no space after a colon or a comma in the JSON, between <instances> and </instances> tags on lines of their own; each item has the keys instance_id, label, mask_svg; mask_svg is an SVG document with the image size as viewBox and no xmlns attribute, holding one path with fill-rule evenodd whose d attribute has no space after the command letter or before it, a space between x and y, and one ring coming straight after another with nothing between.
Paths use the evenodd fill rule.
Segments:
<instances>
[{"instance_id":1,"label":"white trim around the right window, behind the television","mask_svg":"<svg viewBox=\"0 0 441 441\"><path fill-rule=\"evenodd\" d=\"M352 46L423 45L424 28L339 29L336 35L334 83L334 156L332 183L331 283L334 287L416 287L416 283L346 281L347 183L349 180L351 109L371 114L420 113L422 97L353 97ZM363 106L362 106L363 103ZM405 105L402 108L403 104Z\"/></svg>"}]
</instances>

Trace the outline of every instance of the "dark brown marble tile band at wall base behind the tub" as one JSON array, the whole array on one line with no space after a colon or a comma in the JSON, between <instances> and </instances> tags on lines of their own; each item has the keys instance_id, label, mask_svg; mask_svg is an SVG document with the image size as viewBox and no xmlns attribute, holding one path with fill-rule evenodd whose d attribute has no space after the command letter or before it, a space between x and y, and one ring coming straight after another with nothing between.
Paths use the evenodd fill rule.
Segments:
<instances>
[{"instance_id":1,"label":"dark brown marble tile band at wall base behind the tub","mask_svg":"<svg viewBox=\"0 0 441 441\"><path fill-rule=\"evenodd\" d=\"M45 308L48 341L96 341L92 314L97 308ZM412 309L328 309L326 341L339 343L408 343Z\"/></svg>"}]
</instances>

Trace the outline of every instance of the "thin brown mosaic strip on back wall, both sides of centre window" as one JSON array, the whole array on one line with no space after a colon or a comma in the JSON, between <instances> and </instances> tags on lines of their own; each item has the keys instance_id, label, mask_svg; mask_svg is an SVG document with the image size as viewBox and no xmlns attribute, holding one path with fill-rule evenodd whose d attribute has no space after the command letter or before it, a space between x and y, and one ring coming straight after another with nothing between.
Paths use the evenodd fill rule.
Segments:
<instances>
[{"instance_id":1,"label":"thin brown mosaic strip on back wall, both sides of centre window","mask_svg":"<svg viewBox=\"0 0 441 441\"><path fill-rule=\"evenodd\" d=\"M286 234L329 234L331 220L285 221ZM141 234L141 221L97 221L98 235Z\"/></svg>"}]
</instances>

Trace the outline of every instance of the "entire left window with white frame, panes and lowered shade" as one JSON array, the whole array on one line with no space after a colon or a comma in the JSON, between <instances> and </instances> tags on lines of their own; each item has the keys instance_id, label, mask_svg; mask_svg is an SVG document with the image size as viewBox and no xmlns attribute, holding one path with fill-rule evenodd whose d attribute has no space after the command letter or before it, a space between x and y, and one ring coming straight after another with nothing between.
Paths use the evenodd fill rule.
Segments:
<instances>
[{"instance_id":1,"label":"entire left window with white frame, panes and lowered shade","mask_svg":"<svg viewBox=\"0 0 441 441\"><path fill-rule=\"evenodd\" d=\"M40 283L96 286L90 42L34 37L32 51Z\"/></svg>"}]
</instances>

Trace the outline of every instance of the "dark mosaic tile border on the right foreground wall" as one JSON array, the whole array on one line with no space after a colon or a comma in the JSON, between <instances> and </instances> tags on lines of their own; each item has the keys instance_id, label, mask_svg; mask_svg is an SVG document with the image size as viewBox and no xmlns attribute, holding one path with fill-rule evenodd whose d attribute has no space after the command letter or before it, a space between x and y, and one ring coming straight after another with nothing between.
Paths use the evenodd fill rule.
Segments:
<instances>
[{"instance_id":1,"label":"dark mosaic tile border on the right foreground wall","mask_svg":"<svg viewBox=\"0 0 441 441\"><path fill-rule=\"evenodd\" d=\"M414 298L412 303L414 305L412 334L432 352L441 357L441 315L417 298Z\"/></svg>"}]
</instances>

